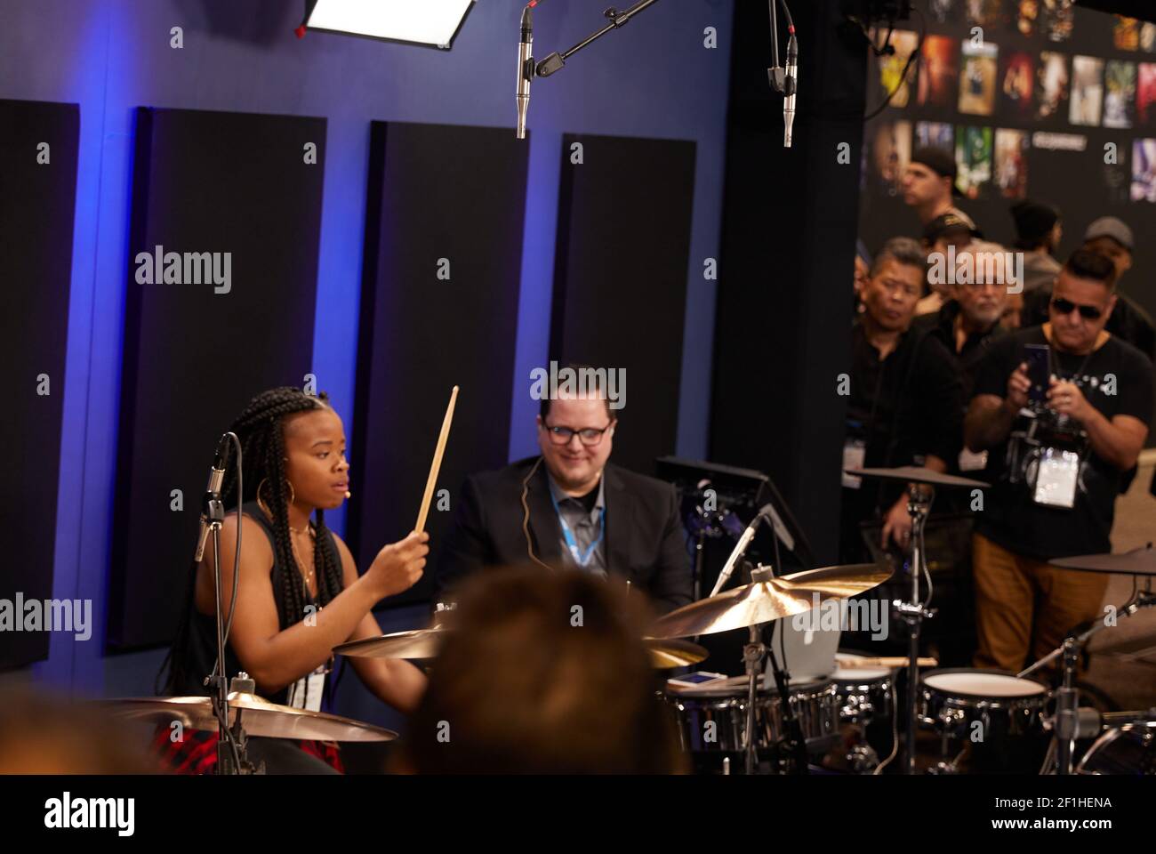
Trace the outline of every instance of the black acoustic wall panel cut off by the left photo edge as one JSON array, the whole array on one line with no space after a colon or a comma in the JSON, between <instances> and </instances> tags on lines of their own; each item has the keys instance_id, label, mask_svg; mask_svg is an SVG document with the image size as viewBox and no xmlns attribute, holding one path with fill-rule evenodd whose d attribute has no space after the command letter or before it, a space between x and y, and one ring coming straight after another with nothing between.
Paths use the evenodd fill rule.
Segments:
<instances>
[{"instance_id":1,"label":"black acoustic wall panel cut off by the left photo edge","mask_svg":"<svg viewBox=\"0 0 1156 854\"><path fill-rule=\"evenodd\" d=\"M17 592L25 602L52 598L79 145L76 104L0 101L0 275L7 302L0 363L9 380L0 419L0 525L12 535L0 598L13 608ZM3 632L0 670L46 658L49 639L45 631Z\"/></svg>"}]
</instances>

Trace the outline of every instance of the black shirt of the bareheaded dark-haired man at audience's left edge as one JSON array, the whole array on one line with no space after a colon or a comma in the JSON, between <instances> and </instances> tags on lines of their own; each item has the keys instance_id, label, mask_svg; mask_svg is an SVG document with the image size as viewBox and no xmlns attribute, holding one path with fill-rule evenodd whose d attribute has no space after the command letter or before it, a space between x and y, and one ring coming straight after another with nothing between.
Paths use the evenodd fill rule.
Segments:
<instances>
[{"instance_id":1,"label":"black shirt of the bareheaded dark-haired man at audience's left edge","mask_svg":"<svg viewBox=\"0 0 1156 854\"><path fill-rule=\"evenodd\" d=\"M911 465L929 454L951 463L963 443L963 386L955 358L927 331L911 330L885 359L852 330L847 439L865 444L864 466ZM844 525L885 510L902 487L865 480L843 489Z\"/></svg>"}]
</instances>

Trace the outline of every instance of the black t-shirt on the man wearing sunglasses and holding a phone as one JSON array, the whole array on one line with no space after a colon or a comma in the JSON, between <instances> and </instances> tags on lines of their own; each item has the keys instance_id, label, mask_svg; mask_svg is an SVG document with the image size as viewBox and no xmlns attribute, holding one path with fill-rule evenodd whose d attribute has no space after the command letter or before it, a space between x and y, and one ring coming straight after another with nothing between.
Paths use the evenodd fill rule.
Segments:
<instances>
[{"instance_id":1,"label":"black t-shirt on the man wearing sunglasses and holding a phone","mask_svg":"<svg viewBox=\"0 0 1156 854\"><path fill-rule=\"evenodd\" d=\"M1024 345L1047 343L1042 326L993 341L976 376L976 395L1006 397L1008 377L1024 361ZM1113 336L1088 355L1053 348L1052 369L1079 385L1088 403L1109 420L1132 415L1151 425L1153 366L1131 344ZM1017 418L1013 433L1025 421ZM1110 552L1109 535L1124 472L1088 448L1081 459L1075 506L1045 507L1032 501L1025 483L1009 483L1009 444L1005 441L988 451L987 468L979 479L992 488L984 496L983 513L976 514L976 530L1005 549L1042 560Z\"/></svg>"}]
</instances>

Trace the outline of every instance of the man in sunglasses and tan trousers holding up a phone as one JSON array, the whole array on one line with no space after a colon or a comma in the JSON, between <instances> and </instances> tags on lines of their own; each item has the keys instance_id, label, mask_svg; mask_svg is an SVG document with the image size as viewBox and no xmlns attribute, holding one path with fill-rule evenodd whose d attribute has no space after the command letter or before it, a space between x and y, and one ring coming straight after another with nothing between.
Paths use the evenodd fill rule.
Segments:
<instances>
[{"instance_id":1,"label":"man in sunglasses and tan trousers holding up a phone","mask_svg":"<svg viewBox=\"0 0 1156 854\"><path fill-rule=\"evenodd\" d=\"M1107 576L1047 561L1111 551L1120 479L1151 424L1151 362L1104 329L1114 281L1107 258L1076 250L1047 322L992 343L977 373L964 439L988 451L979 478L992 484L972 538L977 667L1016 672L1103 617ZM1036 351L1050 367L1046 389L1033 391L1028 345L1048 348Z\"/></svg>"}]
</instances>

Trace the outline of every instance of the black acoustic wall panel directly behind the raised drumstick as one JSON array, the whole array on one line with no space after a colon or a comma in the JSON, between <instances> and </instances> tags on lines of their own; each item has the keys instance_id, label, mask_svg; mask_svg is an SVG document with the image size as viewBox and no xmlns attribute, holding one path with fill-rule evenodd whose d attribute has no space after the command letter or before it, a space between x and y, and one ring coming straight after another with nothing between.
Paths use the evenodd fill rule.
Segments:
<instances>
[{"instance_id":1,"label":"black acoustic wall panel directly behind the raised drumstick","mask_svg":"<svg viewBox=\"0 0 1156 854\"><path fill-rule=\"evenodd\" d=\"M349 522L362 569L417 521L453 385L430 567L462 480L506 463L510 396L529 389L513 385L527 153L506 128L372 126ZM430 577L385 604L428 601Z\"/></svg>"}]
</instances>

